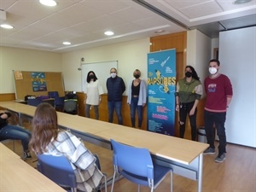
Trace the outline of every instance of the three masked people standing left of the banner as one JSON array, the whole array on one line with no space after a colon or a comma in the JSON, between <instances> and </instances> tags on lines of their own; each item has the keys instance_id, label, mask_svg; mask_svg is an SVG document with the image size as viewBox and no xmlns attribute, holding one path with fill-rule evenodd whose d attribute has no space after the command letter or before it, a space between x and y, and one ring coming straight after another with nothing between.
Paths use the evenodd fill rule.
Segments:
<instances>
[{"instance_id":1,"label":"three masked people standing left of the banner","mask_svg":"<svg viewBox=\"0 0 256 192\"><path fill-rule=\"evenodd\" d=\"M136 69L133 72L134 79L128 87L127 103L130 105L131 126L135 127L136 111L138 115L138 128L142 127L143 123L143 107L147 102L147 85L146 82L140 79L141 72ZM99 104L102 102L102 85L96 78L96 74L90 71L87 74L87 84L85 85L85 115L90 118L90 108L93 106L96 119L99 119ZM113 122L113 112L115 111L119 125L123 125L122 117L122 100L125 92L125 82L117 75L117 69L110 69L110 77L106 82L108 90L108 122Z\"/></svg>"}]
</instances>

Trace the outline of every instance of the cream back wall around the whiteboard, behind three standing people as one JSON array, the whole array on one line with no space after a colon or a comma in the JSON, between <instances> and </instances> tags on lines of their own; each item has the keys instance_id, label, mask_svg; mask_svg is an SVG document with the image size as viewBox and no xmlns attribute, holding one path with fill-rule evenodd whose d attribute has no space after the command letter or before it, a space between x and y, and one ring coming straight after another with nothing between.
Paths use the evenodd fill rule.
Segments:
<instances>
[{"instance_id":1,"label":"cream back wall around the whiteboard, behind three standing people","mask_svg":"<svg viewBox=\"0 0 256 192\"><path fill-rule=\"evenodd\" d=\"M147 80L147 54L150 50L149 38L122 44L111 44L92 49L83 49L62 54L62 72L66 90L81 91L80 60L84 57L84 63L118 61L118 75L123 78L126 86L133 79L133 72L139 69L142 79ZM106 71L109 73L110 69ZM102 82L106 84L106 82ZM127 91L125 91L127 95Z\"/></svg>"}]
</instances>

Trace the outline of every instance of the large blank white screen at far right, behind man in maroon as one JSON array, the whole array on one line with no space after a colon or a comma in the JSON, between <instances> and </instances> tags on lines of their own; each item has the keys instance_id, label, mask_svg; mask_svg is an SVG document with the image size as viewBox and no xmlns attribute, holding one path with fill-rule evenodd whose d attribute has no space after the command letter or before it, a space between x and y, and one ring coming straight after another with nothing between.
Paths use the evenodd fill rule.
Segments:
<instances>
[{"instance_id":1,"label":"large blank white screen at far right, behind man in maroon","mask_svg":"<svg viewBox=\"0 0 256 192\"><path fill-rule=\"evenodd\" d=\"M233 85L227 112L228 143L256 147L256 26L219 33L220 73Z\"/></svg>"}]
</instances>

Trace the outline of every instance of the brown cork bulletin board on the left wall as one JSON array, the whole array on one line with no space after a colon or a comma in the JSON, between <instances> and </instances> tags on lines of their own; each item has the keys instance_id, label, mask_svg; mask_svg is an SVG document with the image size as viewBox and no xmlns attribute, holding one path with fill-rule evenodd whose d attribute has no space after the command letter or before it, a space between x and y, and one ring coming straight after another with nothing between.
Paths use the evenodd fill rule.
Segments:
<instances>
[{"instance_id":1,"label":"brown cork bulletin board on the left wall","mask_svg":"<svg viewBox=\"0 0 256 192\"><path fill-rule=\"evenodd\" d=\"M35 74L44 74L44 89L35 89ZM61 72L26 72L14 71L15 98L24 100L25 96L48 96L48 91L58 91L59 96L64 96L64 83ZM39 79L38 79L39 80Z\"/></svg>"}]
</instances>

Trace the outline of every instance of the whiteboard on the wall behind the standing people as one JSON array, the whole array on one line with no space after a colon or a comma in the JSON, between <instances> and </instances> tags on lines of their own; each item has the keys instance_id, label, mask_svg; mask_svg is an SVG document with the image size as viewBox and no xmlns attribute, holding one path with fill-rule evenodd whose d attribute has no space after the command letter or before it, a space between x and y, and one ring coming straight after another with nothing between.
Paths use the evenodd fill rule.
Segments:
<instances>
[{"instance_id":1,"label":"whiteboard on the wall behind the standing people","mask_svg":"<svg viewBox=\"0 0 256 192\"><path fill-rule=\"evenodd\" d=\"M97 79L102 85L104 93L108 93L106 82L110 77L110 69L118 67L118 61L104 61L104 62L93 62L93 63L82 63L82 90L84 92L84 87L86 84L87 74L93 71L96 74Z\"/></svg>"}]
</instances>

